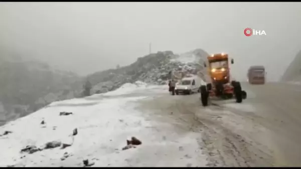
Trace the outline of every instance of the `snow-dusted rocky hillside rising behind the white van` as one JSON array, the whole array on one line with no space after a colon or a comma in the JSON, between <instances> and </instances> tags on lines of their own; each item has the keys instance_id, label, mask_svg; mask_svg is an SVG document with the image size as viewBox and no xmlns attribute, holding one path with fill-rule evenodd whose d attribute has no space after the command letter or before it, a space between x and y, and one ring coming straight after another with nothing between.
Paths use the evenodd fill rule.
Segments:
<instances>
[{"instance_id":1,"label":"snow-dusted rocky hillside rising behind the white van","mask_svg":"<svg viewBox=\"0 0 301 169\"><path fill-rule=\"evenodd\" d=\"M186 71L196 74L205 71L204 58L208 54L196 49L181 55L172 51L158 52L138 58L131 65L110 69L88 76L94 86L92 93L103 93L119 88L124 83L143 81L152 84L166 84L172 71Z\"/></svg>"}]
</instances>

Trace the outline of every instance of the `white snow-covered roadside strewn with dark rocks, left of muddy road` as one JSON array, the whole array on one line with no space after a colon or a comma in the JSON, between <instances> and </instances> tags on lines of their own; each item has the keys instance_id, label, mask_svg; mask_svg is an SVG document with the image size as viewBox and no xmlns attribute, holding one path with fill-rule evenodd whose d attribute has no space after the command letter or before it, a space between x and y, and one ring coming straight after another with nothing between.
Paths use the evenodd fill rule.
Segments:
<instances>
[{"instance_id":1,"label":"white snow-covered roadside strewn with dark rocks, left of muddy road","mask_svg":"<svg viewBox=\"0 0 301 169\"><path fill-rule=\"evenodd\" d=\"M166 86L142 82L124 84L112 92L53 102L1 126L0 134L12 133L0 136L0 166L83 166L84 159L94 163L93 166L205 166L206 157L200 155L195 139L200 137L199 133L177 133L167 122L146 119L135 108L146 96L116 97L138 90L167 91ZM100 95L111 97L97 100ZM60 116L63 111L73 114ZM43 120L45 124L41 124ZM78 133L72 136L75 128ZM131 136L142 144L122 150ZM43 149L49 141L71 146ZM27 145L42 150L31 154L20 152Z\"/></svg>"}]
</instances>

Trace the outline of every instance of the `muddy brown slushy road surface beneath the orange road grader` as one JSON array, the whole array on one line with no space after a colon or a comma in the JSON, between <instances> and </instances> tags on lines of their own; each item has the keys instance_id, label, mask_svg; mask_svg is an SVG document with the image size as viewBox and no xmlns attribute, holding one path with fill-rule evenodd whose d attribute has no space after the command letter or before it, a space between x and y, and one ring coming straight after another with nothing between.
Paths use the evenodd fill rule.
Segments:
<instances>
[{"instance_id":1,"label":"muddy brown slushy road surface beneath the orange road grader","mask_svg":"<svg viewBox=\"0 0 301 169\"><path fill-rule=\"evenodd\" d=\"M242 104L214 100L203 108L195 94L162 96L141 108L201 133L198 141L209 166L301 166L300 86L242 85L248 92Z\"/></svg>"}]
</instances>

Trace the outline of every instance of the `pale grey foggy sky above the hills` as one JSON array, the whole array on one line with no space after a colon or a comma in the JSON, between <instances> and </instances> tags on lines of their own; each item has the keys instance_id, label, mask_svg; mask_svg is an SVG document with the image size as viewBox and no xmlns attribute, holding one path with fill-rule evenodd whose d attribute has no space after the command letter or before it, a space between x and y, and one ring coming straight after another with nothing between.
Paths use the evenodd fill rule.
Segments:
<instances>
[{"instance_id":1,"label":"pale grey foggy sky above the hills","mask_svg":"<svg viewBox=\"0 0 301 169\"><path fill-rule=\"evenodd\" d=\"M234 58L246 78L262 64L278 80L301 50L301 3L0 3L0 43L79 74L152 51L201 48ZM246 37L245 28L266 36Z\"/></svg>"}]
</instances>

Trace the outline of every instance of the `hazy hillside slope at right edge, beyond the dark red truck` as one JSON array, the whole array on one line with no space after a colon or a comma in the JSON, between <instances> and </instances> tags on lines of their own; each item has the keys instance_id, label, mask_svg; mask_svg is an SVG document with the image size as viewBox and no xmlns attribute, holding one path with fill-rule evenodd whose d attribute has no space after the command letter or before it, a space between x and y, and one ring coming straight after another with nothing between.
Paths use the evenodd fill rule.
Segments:
<instances>
[{"instance_id":1,"label":"hazy hillside slope at right edge, beyond the dark red truck","mask_svg":"<svg viewBox=\"0 0 301 169\"><path fill-rule=\"evenodd\" d=\"M284 72L281 81L284 82L301 82L301 51L297 53L294 60L290 63Z\"/></svg>"}]
</instances>

